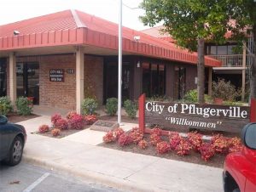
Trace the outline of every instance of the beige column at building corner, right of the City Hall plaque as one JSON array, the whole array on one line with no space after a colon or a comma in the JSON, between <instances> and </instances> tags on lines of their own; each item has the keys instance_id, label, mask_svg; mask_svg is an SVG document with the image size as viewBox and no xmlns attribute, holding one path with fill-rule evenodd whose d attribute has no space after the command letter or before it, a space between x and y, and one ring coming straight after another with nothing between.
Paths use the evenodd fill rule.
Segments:
<instances>
[{"instance_id":1,"label":"beige column at building corner, right of the City Hall plaque","mask_svg":"<svg viewBox=\"0 0 256 192\"><path fill-rule=\"evenodd\" d=\"M81 114L84 99L84 52L82 48L76 51L76 110Z\"/></svg>"}]
</instances>

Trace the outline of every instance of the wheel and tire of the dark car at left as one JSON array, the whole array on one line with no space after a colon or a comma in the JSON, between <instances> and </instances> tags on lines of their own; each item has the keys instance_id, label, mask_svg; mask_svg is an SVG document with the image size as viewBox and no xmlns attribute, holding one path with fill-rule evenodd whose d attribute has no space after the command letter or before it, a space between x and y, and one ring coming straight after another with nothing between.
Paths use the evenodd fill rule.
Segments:
<instances>
[{"instance_id":1,"label":"wheel and tire of the dark car at left","mask_svg":"<svg viewBox=\"0 0 256 192\"><path fill-rule=\"evenodd\" d=\"M11 147L9 149L9 159L7 164L9 166L15 166L20 163L23 154L24 142L20 136L15 137Z\"/></svg>"}]
</instances>

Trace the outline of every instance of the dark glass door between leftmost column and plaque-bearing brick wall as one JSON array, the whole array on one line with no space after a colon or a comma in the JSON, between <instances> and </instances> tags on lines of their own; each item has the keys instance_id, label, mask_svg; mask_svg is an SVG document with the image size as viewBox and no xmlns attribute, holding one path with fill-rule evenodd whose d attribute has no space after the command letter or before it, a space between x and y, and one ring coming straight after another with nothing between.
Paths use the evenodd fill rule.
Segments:
<instances>
[{"instance_id":1,"label":"dark glass door between leftmost column and plaque-bearing brick wall","mask_svg":"<svg viewBox=\"0 0 256 192\"><path fill-rule=\"evenodd\" d=\"M33 104L39 104L38 63L17 63L17 96L32 97Z\"/></svg>"}]
</instances>

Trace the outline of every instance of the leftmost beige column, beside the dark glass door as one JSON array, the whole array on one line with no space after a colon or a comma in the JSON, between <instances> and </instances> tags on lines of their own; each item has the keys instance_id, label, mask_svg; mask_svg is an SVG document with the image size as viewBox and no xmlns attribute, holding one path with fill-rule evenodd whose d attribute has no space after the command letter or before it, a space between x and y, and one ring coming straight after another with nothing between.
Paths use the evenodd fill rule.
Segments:
<instances>
[{"instance_id":1,"label":"leftmost beige column, beside the dark glass door","mask_svg":"<svg viewBox=\"0 0 256 192\"><path fill-rule=\"evenodd\" d=\"M16 80L16 56L12 52L9 54L9 97L13 104L17 99L17 80Z\"/></svg>"}]
</instances>

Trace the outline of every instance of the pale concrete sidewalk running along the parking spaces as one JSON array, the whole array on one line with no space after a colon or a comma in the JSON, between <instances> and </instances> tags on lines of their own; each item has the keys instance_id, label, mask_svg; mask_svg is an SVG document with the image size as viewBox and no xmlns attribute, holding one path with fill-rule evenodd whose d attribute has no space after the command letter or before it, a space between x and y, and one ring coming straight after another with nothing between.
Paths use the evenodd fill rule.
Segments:
<instances>
[{"instance_id":1,"label":"pale concrete sidewalk running along the parking spaces","mask_svg":"<svg viewBox=\"0 0 256 192\"><path fill-rule=\"evenodd\" d=\"M124 191L223 191L219 168L31 134L47 116L20 124L28 133L23 160L32 164Z\"/></svg>"}]
</instances>

